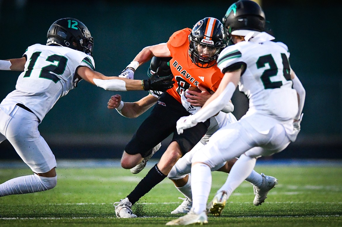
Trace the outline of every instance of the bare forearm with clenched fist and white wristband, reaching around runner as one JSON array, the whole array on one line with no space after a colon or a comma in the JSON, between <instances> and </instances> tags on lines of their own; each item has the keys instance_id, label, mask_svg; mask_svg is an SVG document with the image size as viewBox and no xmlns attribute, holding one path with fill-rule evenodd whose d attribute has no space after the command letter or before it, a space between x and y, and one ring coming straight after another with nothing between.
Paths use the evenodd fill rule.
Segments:
<instances>
[{"instance_id":1,"label":"bare forearm with clenched fist and white wristband, reaching around runner","mask_svg":"<svg viewBox=\"0 0 342 227\"><path fill-rule=\"evenodd\" d=\"M137 102L126 103L122 102L121 95L116 94L110 97L107 108L116 108L116 110L124 117L136 118L156 104L157 101L158 98L148 94Z\"/></svg>"}]
</instances>

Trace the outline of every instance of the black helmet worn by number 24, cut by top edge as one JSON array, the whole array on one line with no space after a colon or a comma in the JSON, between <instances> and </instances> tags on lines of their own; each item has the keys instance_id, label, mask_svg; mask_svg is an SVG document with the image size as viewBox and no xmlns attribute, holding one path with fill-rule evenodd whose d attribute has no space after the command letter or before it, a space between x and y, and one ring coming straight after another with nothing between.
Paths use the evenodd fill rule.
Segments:
<instances>
[{"instance_id":1,"label":"black helmet worn by number 24, cut by top edge","mask_svg":"<svg viewBox=\"0 0 342 227\"><path fill-rule=\"evenodd\" d=\"M226 38L231 35L246 36L249 32L257 35L265 31L265 14L260 5L250 0L239 0L229 6L222 18Z\"/></svg>"}]
</instances>

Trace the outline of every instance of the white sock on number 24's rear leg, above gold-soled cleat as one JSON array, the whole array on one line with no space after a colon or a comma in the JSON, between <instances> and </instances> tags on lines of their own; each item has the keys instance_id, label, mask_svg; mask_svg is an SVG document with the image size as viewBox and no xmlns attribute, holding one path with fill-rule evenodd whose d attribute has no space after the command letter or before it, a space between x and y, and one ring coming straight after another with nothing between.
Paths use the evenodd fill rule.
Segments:
<instances>
[{"instance_id":1,"label":"white sock on number 24's rear leg, above gold-soled cleat","mask_svg":"<svg viewBox=\"0 0 342 227\"><path fill-rule=\"evenodd\" d=\"M245 154L242 154L233 165L226 182L222 185L218 192L226 191L229 197L233 191L250 175L255 167L256 162L256 158L251 158Z\"/></svg>"}]
</instances>

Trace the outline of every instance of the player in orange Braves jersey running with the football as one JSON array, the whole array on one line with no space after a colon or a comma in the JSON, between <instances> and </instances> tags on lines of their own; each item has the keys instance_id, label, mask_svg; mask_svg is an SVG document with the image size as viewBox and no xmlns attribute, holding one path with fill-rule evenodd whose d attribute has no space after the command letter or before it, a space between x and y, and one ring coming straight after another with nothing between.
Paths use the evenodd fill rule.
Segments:
<instances>
[{"instance_id":1,"label":"player in orange Braves jersey running with the football","mask_svg":"<svg viewBox=\"0 0 342 227\"><path fill-rule=\"evenodd\" d=\"M167 43L143 48L120 75L133 79L137 67L153 56L171 57L170 67L175 84L161 95L158 104L123 152L121 166L125 169L134 168L145 157L156 152L160 142L173 133L170 145L158 164L149 170L126 198L115 203L117 217L136 217L131 206L165 179L177 160L191 150L207 132L209 121L201 122L181 135L176 133L177 120L190 115L181 103L181 93L190 86L202 87L203 96L210 96L209 91L216 91L223 77L216 66L216 59L225 45L222 23L218 19L207 17L198 21L193 29L185 28L174 32ZM200 100L198 105L202 105L199 102ZM118 110L122 109L122 105L123 102Z\"/></svg>"}]
</instances>

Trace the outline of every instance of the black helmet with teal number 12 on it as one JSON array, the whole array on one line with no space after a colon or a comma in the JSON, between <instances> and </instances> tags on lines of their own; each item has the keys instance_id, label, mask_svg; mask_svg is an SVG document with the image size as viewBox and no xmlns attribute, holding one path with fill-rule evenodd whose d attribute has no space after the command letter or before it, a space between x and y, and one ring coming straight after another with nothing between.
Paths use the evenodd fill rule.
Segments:
<instances>
[{"instance_id":1,"label":"black helmet with teal number 12 on it","mask_svg":"<svg viewBox=\"0 0 342 227\"><path fill-rule=\"evenodd\" d=\"M94 39L81 21L74 18L62 18L50 26L46 45L66 46L92 56Z\"/></svg>"}]
</instances>

